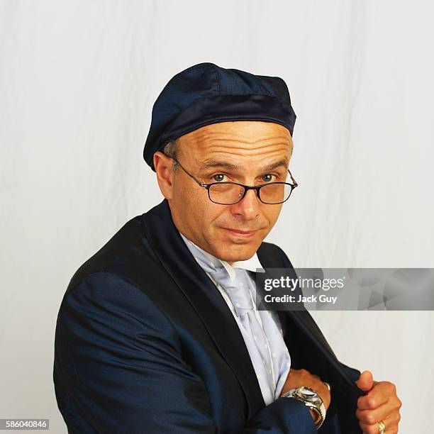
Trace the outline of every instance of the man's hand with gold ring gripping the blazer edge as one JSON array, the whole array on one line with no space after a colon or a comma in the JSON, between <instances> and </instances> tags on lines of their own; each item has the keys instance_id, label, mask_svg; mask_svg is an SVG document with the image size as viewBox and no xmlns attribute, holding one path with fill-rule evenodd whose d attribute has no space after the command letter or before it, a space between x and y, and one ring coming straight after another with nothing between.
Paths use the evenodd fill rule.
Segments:
<instances>
[{"instance_id":1,"label":"man's hand with gold ring gripping the blazer edge","mask_svg":"<svg viewBox=\"0 0 434 434\"><path fill-rule=\"evenodd\" d=\"M378 434L381 421L386 427L385 433L398 433L401 419L399 408L402 403L396 395L395 385L389 382L374 382L369 371L362 372L356 384L359 389L368 392L357 401L356 416L363 433Z\"/></svg>"}]
</instances>

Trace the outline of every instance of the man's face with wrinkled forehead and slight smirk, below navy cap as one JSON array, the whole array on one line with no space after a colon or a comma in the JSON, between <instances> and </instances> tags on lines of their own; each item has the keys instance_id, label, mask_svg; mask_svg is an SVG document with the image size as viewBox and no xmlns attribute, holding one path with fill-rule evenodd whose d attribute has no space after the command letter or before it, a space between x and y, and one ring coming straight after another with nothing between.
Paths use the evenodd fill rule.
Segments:
<instances>
[{"instance_id":1,"label":"man's face with wrinkled forehead and slight smirk, below navy cap","mask_svg":"<svg viewBox=\"0 0 434 434\"><path fill-rule=\"evenodd\" d=\"M204 184L285 182L291 153L289 130L261 121L214 123L183 135L177 146L177 160ZM274 163L281 164L267 169ZM159 172L157 167L160 178ZM206 189L181 167L168 173L169 187L163 194L177 229L206 252L230 263L255 254L282 209L282 204L262 204L252 189L238 204L214 204Z\"/></svg>"}]
</instances>

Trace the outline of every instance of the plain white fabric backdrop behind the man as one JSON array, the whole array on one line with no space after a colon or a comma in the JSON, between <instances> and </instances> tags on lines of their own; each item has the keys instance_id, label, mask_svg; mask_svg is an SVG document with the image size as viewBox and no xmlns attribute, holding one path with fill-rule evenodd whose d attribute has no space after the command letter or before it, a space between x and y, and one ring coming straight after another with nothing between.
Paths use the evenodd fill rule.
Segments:
<instances>
[{"instance_id":1,"label":"plain white fabric backdrop behind the man","mask_svg":"<svg viewBox=\"0 0 434 434\"><path fill-rule=\"evenodd\" d=\"M288 84L300 187L267 240L294 266L434 267L433 12L416 0L1 0L0 418L66 433L52 386L60 301L84 260L162 200L143 144L157 94L190 65ZM343 362L397 384L401 433L433 432L433 313L314 316Z\"/></svg>"}]
</instances>

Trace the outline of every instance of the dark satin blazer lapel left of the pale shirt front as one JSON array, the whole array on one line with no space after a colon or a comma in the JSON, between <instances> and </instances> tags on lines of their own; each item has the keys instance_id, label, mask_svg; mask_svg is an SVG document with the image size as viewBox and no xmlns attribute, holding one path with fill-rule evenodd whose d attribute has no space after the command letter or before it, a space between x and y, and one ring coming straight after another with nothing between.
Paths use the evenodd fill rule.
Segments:
<instances>
[{"instance_id":1,"label":"dark satin blazer lapel left of the pale shirt front","mask_svg":"<svg viewBox=\"0 0 434 434\"><path fill-rule=\"evenodd\" d=\"M183 291L238 378L247 399L247 419L250 419L265 402L243 336L228 305L179 235L166 199L143 214L143 226L163 267Z\"/></svg>"}]
</instances>

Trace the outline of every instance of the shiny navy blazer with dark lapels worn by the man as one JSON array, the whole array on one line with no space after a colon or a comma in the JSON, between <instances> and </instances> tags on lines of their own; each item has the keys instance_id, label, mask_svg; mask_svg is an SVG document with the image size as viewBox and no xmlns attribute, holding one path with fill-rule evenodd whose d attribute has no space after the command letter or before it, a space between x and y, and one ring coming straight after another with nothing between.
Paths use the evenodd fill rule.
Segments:
<instances>
[{"instance_id":1,"label":"shiny navy blazer with dark lapels worn by the man","mask_svg":"<svg viewBox=\"0 0 434 434\"><path fill-rule=\"evenodd\" d=\"M262 267L292 268L262 243ZM332 386L320 433L360 433L360 372L307 311L279 311L291 366ZM306 406L262 398L226 302L174 226L167 200L128 221L77 270L57 316L53 379L69 433L316 433Z\"/></svg>"}]
</instances>

